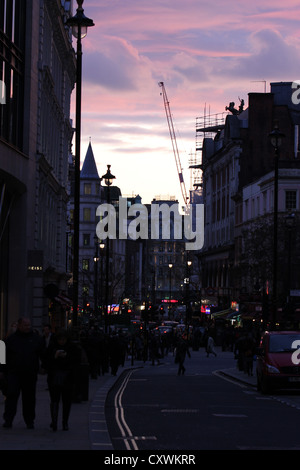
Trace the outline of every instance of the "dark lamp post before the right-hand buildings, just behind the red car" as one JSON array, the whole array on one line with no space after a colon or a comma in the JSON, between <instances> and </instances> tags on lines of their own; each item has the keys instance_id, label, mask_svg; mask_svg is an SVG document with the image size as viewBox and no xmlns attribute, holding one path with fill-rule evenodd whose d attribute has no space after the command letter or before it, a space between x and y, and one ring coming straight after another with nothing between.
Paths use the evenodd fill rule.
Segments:
<instances>
[{"instance_id":1,"label":"dark lamp post before the right-hand buildings, just behind the red car","mask_svg":"<svg viewBox=\"0 0 300 470\"><path fill-rule=\"evenodd\" d=\"M277 251L278 251L278 161L279 147L282 144L284 134L279 131L278 121L274 123L274 129L269 134L271 144L275 149L274 162L274 222L273 222L273 323L274 327L277 318Z\"/></svg>"}]
</instances>

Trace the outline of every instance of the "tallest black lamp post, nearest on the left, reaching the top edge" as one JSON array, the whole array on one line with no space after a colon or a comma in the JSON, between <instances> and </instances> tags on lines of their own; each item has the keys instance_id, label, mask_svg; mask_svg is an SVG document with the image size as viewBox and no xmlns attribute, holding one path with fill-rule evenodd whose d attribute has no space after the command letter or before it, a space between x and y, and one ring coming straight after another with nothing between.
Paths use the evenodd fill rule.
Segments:
<instances>
[{"instance_id":1,"label":"tallest black lamp post, nearest on the left, reaching the top edge","mask_svg":"<svg viewBox=\"0 0 300 470\"><path fill-rule=\"evenodd\" d=\"M77 39L76 52L76 140L75 140L75 184L74 184L74 247L73 247L73 326L78 318L78 274L79 274L79 210L80 210L80 132L81 132L81 85L82 85L82 47L81 40L87 35L87 28L94 26L93 20L83 13L83 0L77 0L76 15L68 18L66 25L72 28Z\"/></svg>"}]
</instances>

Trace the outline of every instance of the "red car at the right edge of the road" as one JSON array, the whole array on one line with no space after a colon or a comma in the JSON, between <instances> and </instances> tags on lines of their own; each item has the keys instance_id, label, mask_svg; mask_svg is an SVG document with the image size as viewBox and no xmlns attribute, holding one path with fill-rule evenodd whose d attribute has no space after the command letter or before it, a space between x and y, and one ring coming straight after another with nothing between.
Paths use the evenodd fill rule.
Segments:
<instances>
[{"instance_id":1,"label":"red car at the right edge of the road","mask_svg":"<svg viewBox=\"0 0 300 470\"><path fill-rule=\"evenodd\" d=\"M257 390L300 390L300 331L265 331L256 355Z\"/></svg>"}]
</instances>

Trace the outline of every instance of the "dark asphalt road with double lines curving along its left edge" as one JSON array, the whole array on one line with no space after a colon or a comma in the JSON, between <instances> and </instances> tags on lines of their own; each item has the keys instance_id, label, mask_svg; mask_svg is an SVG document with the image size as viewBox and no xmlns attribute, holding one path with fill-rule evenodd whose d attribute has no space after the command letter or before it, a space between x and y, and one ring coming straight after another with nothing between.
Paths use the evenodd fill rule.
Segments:
<instances>
[{"instance_id":1,"label":"dark asphalt road with double lines curving along its left edge","mask_svg":"<svg viewBox=\"0 0 300 470\"><path fill-rule=\"evenodd\" d=\"M106 403L114 450L300 449L300 392L264 396L221 375L235 368L233 353L192 351L184 376L171 354L161 365L136 366Z\"/></svg>"}]
</instances>

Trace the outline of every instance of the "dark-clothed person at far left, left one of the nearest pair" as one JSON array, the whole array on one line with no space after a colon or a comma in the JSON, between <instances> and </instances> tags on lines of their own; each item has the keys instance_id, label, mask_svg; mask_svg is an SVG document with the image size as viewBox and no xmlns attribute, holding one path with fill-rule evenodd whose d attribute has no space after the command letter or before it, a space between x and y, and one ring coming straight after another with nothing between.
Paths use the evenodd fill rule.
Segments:
<instances>
[{"instance_id":1,"label":"dark-clothed person at far left, left one of the nearest pair","mask_svg":"<svg viewBox=\"0 0 300 470\"><path fill-rule=\"evenodd\" d=\"M5 339L6 343L6 400L3 427L11 428L22 393L23 418L28 429L34 428L36 382L43 353L40 335L31 329L29 318L22 317L17 329Z\"/></svg>"}]
</instances>

